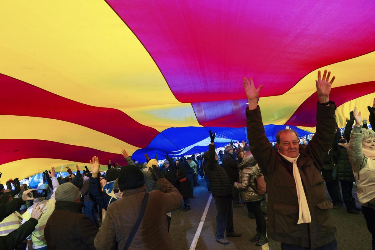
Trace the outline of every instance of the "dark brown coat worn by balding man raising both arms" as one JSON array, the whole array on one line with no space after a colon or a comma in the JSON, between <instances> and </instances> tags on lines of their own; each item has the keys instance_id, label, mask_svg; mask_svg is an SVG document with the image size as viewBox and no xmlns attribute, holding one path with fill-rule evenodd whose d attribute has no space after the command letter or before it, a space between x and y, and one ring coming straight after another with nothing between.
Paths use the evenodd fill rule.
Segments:
<instances>
[{"instance_id":1,"label":"dark brown coat worn by balding man raising both arms","mask_svg":"<svg viewBox=\"0 0 375 250\"><path fill-rule=\"evenodd\" d=\"M317 132L307 146L300 145L297 166L305 189L311 223L297 224L299 203L293 165L273 150L264 133L260 108L246 110L249 148L267 175L269 238L309 249L335 240L335 222L321 175L324 158L335 134L335 105L317 105Z\"/></svg>"}]
</instances>

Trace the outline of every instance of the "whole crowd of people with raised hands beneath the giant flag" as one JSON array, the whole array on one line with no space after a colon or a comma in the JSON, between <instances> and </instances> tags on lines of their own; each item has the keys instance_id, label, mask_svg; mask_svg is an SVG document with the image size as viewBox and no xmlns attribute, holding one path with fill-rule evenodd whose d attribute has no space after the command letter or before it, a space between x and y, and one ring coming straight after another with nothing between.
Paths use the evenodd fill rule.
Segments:
<instances>
[{"instance_id":1,"label":"whole crowd of people with raised hands beneath the giant flag","mask_svg":"<svg viewBox=\"0 0 375 250\"><path fill-rule=\"evenodd\" d=\"M231 141L217 151L210 130L207 151L186 158L167 153L161 167L147 154L139 163L126 150L121 154L127 164L109 161L106 172L100 172L96 156L82 173L79 165L75 173L67 167L65 178L56 177L52 167L43 172L42 197L34 197L35 189L18 178L0 184L0 249L174 249L171 213L193 209L194 187L203 179L215 202L220 244L241 237L234 230L233 208L246 206L255 219L250 241L256 246L271 238L283 250L335 250L330 209L345 204L348 213L362 211L375 249L375 132L354 107L341 133L336 105L329 100L335 77L329 78L330 72L323 77L318 72L317 129L306 139L286 127L270 142L257 104L262 85L255 88L244 78L248 143ZM375 99L368 110L375 128ZM354 182L362 207L353 197ZM266 192L267 213L261 209Z\"/></svg>"}]
</instances>

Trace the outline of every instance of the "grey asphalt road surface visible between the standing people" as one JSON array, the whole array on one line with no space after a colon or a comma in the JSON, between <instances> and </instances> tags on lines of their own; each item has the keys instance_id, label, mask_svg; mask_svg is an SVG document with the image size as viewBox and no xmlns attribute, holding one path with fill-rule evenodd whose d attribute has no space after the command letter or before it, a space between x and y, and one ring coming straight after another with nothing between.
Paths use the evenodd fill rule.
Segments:
<instances>
[{"instance_id":1,"label":"grey asphalt road surface visible between the standing people","mask_svg":"<svg viewBox=\"0 0 375 250\"><path fill-rule=\"evenodd\" d=\"M355 187L353 188L355 190ZM176 250L190 249L193 239L197 232L199 223L201 222L207 201L211 193L207 192L204 180L201 180L201 186L194 188L194 195L196 199L190 201L192 210L174 211L172 213L172 220L170 232L174 247ZM356 195L354 194L356 197ZM357 205L359 205L357 200ZM266 211L266 206L263 207ZM339 250L371 250L371 234L366 228L366 222L362 214L354 215L346 212L345 205L339 209L332 209L333 216L336 220ZM213 249L213 250L229 250L229 249L257 249L257 250L281 250L280 243L270 240L269 244L263 247L255 246L255 243L249 239L255 234L255 220L248 217L245 207L233 208L234 229L236 232L242 233L238 238L227 238L230 242L228 245L221 245L215 239L215 216L216 208L214 199L211 199L208 207L208 212L201 228L201 233L196 241L197 250Z\"/></svg>"}]
</instances>

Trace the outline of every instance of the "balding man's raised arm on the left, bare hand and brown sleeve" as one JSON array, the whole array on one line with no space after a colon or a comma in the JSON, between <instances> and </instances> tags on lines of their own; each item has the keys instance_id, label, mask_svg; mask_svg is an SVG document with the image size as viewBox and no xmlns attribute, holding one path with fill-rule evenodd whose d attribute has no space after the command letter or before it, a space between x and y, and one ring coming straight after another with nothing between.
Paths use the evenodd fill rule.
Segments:
<instances>
[{"instance_id":1,"label":"balding man's raised arm on the left, bare hand and brown sleeve","mask_svg":"<svg viewBox=\"0 0 375 250\"><path fill-rule=\"evenodd\" d=\"M243 87L248 97L249 107L246 109L249 148L260 166L262 173L268 175L275 169L276 154L266 134L262 122L262 115L258 106L259 91L263 87L254 87L253 79L243 79Z\"/></svg>"}]
</instances>

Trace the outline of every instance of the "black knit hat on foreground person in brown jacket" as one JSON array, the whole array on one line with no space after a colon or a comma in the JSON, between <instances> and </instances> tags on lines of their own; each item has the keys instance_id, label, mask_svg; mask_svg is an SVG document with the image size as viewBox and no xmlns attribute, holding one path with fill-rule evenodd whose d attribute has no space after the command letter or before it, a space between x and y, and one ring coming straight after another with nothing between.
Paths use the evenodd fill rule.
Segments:
<instances>
[{"instance_id":1,"label":"black knit hat on foreground person in brown jacket","mask_svg":"<svg viewBox=\"0 0 375 250\"><path fill-rule=\"evenodd\" d=\"M118 187L120 190L136 189L144 185L144 177L141 169L136 165L124 166L118 175Z\"/></svg>"}]
</instances>

